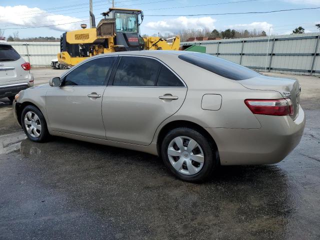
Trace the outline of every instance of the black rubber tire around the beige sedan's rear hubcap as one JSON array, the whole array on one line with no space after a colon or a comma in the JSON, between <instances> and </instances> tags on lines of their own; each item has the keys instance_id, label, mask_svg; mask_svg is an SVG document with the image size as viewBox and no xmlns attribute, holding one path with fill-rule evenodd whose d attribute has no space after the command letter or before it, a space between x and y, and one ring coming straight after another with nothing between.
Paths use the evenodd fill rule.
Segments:
<instances>
[{"instance_id":1,"label":"black rubber tire around the beige sedan's rear hubcap","mask_svg":"<svg viewBox=\"0 0 320 240\"><path fill-rule=\"evenodd\" d=\"M194 139L203 151L204 160L203 160L202 168L200 168L200 170L195 174L190 174L190 175L183 174L180 171L177 171L176 169L174 169L174 167L170 163L170 160L167 154L168 147L170 142L177 136L186 136ZM160 150L161 150L161 157L165 166L176 177L184 181L202 182L206 180L209 176L211 176L213 170L219 164L219 155L215 147L215 144L213 144L213 142L211 142L211 140L205 137L205 135L202 134L201 132L188 127L179 127L179 128L170 130L162 139ZM185 162L183 162L183 164L185 164Z\"/></svg>"}]
</instances>

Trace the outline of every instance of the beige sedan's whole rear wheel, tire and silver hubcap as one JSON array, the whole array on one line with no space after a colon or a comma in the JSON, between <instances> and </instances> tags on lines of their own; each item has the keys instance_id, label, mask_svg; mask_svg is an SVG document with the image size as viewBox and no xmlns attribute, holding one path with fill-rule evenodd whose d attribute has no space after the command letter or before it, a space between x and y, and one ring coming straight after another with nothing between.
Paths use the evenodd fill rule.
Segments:
<instances>
[{"instance_id":1,"label":"beige sedan's whole rear wheel, tire and silver hubcap","mask_svg":"<svg viewBox=\"0 0 320 240\"><path fill-rule=\"evenodd\" d=\"M161 144L161 156L174 175L191 182L208 178L219 161L211 140L187 127L175 128L166 134Z\"/></svg>"}]
</instances>

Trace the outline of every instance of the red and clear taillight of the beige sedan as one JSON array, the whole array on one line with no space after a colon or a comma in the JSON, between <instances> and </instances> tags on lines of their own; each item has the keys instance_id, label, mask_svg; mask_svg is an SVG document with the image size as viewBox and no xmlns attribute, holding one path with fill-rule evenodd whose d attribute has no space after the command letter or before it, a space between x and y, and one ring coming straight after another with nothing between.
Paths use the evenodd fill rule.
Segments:
<instances>
[{"instance_id":1,"label":"red and clear taillight of the beige sedan","mask_svg":"<svg viewBox=\"0 0 320 240\"><path fill-rule=\"evenodd\" d=\"M254 114L275 116L293 115L293 105L290 98L245 99L244 103Z\"/></svg>"}]
</instances>

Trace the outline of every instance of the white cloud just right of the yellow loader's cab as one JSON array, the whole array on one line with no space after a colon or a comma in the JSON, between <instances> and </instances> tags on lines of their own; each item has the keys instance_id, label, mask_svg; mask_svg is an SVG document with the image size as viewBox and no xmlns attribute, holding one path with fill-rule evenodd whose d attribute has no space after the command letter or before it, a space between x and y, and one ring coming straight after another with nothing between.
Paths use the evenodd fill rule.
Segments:
<instances>
[{"instance_id":1,"label":"white cloud just right of the yellow loader's cab","mask_svg":"<svg viewBox=\"0 0 320 240\"><path fill-rule=\"evenodd\" d=\"M145 24L146 28L159 31L161 33L176 33L181 29L204 29L214 28L216 20L210 16L205 17L185 17L179 16L177 18L165 19L160 21L150 21Z\"/></svg>"}]
</instances>

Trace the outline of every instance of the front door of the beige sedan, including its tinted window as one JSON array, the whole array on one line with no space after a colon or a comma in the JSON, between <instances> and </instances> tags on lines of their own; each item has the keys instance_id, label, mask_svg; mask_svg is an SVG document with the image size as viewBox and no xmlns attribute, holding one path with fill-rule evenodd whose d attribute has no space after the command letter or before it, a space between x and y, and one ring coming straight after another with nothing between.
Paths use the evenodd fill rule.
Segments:
<instances>
[{"instance_id":1,"label":"front door of the beige sedan, including its tinted window","mask_svg":"<svg viewBox=\"0 0 320 240\"><path fill-rule=\"evenodd\" d=\"M102 95L116 56L86 61L50 87L46 111L51 130L105 139Z\"/></svg>"}]
</instances>

